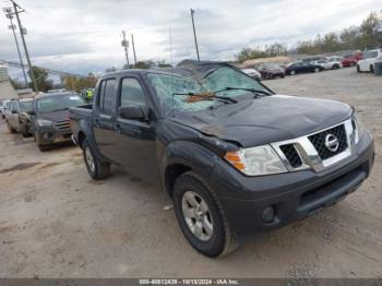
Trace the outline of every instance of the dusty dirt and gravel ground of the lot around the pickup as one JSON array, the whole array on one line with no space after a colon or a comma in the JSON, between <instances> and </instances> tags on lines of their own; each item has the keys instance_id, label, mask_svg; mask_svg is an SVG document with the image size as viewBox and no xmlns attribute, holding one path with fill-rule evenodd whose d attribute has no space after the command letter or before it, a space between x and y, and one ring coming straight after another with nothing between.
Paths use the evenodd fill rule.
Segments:
<instances>
[{"instance_id":1,"label":"dusty dirt and gravel ground of the lot around the pickup","mask_svg":"<svg viewBox=\"0 0 382 286\"><path fill-rule=\"evenodd\" d=\"M343 69L264 83L357 108L377 150L359 191L207 259L164 210L165 192L117 168L94 182L79 148L41 153L0 120L0 277L382 277L382 78Z\"/></svg>"}]
</instances>

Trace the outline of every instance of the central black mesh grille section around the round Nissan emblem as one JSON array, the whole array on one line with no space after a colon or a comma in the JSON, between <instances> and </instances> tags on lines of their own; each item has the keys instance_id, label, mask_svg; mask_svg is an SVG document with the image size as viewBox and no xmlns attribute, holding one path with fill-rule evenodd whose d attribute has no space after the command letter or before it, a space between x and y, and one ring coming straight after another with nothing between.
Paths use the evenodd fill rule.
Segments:
<instances>
[{"instance_id":1,"label":"central black mesh grille section around the round Nissan emblem","mask_svg":"<svg viewBox=\"0 0 382 286\"><path fill-rule=\"evenodd\" d=\"M325 146L325 138L327 134L332 134L338 139L338 148L334 152L330 151ZM347 148L347 139L346 139L346 131L345 131L344 124L341 124L341 126L331 128L329 130L322 131L320 133L310 135L310 136L308 136L308 139L315 147L315 150L319 153L322 160L331 158L331 157L344 152Z\"/></svg>"}]
</instances>

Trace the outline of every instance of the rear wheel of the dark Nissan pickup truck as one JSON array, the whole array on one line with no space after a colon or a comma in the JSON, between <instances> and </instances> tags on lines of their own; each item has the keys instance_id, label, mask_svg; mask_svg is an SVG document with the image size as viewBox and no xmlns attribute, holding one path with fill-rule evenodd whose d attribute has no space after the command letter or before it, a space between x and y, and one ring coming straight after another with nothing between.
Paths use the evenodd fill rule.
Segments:
<instances>
[{"instance_id":1,"label":"rear wheel of the dark Nissan pickup truck","mask_svg":"<svg viewBox=\"0 0 382 286\"><path fill-rule=\"evenodd\" d=\"M84 157L87 172L92 179L102 180L110 176L110 164L100 162L95 156L95 152L86 139L82 142L82 155Z\"/></svg>"}]
</instances>

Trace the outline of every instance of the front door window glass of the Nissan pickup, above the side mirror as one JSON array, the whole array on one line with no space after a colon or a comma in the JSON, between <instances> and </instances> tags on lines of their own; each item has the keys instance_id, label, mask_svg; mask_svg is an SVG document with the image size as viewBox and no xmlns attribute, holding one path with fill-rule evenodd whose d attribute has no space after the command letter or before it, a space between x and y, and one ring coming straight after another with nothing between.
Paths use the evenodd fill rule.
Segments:
<instances>
[{"instance_id":1,"label":"front door window glass of the Nissan pickup, above the side mirror","mask_svg":"<svg viewBox=\"0 0 382 286\"><path fill-rule=\"evenodd\" d=\"M146 105L145 96L140 82L135 79L123 79L121 85L120 106Z\"/></svg>"}]
</instances>

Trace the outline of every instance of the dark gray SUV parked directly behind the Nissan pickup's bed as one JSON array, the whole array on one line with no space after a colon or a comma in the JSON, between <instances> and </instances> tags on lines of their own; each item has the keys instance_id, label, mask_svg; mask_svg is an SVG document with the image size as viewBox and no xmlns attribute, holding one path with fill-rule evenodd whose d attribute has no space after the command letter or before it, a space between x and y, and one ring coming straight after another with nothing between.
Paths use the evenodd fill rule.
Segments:
<instances>
[{"instance_id":1,"label":"dark gray SUV parked directly behind the Nissan pickup's bed","mask_svg":"<svg viewBox=\"0 0 382 286\"><path fill-rule=\"evenodd\" d=\"M56 142L70 141L71 130L69 108L83 105L84 100L73 93L51 93L40 95L34 100L31 112L34 134L40 151L47 151Z\"/></svg>"}]
</instances>

